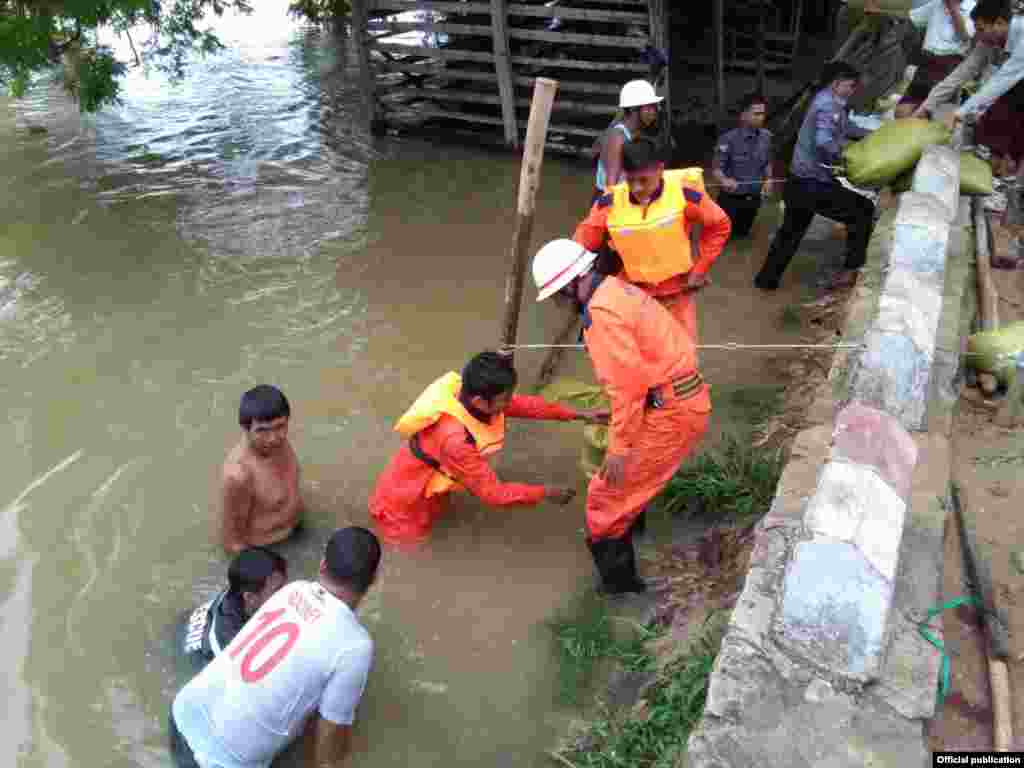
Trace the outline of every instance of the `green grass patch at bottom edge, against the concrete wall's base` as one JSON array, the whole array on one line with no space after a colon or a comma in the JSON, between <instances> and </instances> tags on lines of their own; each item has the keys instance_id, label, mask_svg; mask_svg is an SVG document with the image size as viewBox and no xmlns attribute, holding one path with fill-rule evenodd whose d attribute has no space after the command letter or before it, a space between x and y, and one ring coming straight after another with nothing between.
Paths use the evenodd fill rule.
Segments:
<instances>
[{"instance_id":1,"label":"green grass patch at bottom edge, against the concrete wall's base","mask_svg":"<svg viewBox=\"0 0 1024 768\"><path fill-rule=\"evenodd\" d=\"M713 613L700 638L662 669L644 702L622 715L604 711L556 757L574 768L674 768L703 715L728 612Z\"/></svg>"}]
</instances>

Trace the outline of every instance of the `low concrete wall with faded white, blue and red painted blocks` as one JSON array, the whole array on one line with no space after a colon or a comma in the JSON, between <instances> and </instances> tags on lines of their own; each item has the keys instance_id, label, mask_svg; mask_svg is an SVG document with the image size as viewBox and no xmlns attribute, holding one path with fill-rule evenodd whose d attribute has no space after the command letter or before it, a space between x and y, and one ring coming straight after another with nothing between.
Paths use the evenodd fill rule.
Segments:
<instances>
[{"instance_id":1,"label":"low concrete wall with faded white, blue and red painted blocks","mask_svg":"<svg viewBox=\"0 0 1024 768\"><path fill-rule=\"evenodd\" d=\"M844 341L760 523L690 766L930 766L924 721L968 276L958 156L876 228Z\"/></svg>"}]
</instances>

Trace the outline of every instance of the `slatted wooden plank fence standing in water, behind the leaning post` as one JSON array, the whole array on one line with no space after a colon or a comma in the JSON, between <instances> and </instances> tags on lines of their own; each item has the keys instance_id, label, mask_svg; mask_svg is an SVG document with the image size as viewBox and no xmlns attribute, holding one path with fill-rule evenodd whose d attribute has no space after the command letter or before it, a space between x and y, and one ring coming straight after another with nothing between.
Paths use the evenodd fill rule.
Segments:
<instances>
[{"instance_id":1,"label":"slatted wooden plank fence standing in water, behind the leaning post","mask_svg":"<svg viewBox=\"0 0 1024 768\"><path fill-rule=\"evenodd\" d=\"M535 79L551 77L559 97L549 145L584 153L617 112L623 84L649 78L644 49L671 55L671 2L355 0L360 83L373 91L368 112L388 127L441 121L500 130L501 142L518 148ZM669 81L659 87L667 115Z\"/></svg>"}]
</instances>

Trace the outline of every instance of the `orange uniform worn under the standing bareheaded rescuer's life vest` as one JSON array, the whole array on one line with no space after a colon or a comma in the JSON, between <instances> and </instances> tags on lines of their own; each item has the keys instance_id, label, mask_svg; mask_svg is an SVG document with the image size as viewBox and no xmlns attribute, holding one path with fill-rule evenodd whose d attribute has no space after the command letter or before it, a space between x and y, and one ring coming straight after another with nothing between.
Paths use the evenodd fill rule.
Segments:
<instances>
[{"instance_id":1,"label":"orange uniform worn under the standing bareheaded rescuer's life vest","mask_svg":"<svg viewBox=\"0 0 1024 768\"><path fill-rule=\"evenodd\" d=\"M722 249L725 248L725 244L729 240L732 223L729 221L729 216L719 208L714 200L696 188L694 181L687 178L681 179L680 175L678 175L679 173L681 172L666 171L662 182L663 188L658 190L654 199L646 206L640 206L635 203L633 196L623 189L620 190L617 196L614 191L611 191L598 198L591 207L590 214L577 227L572 239L588 251L598 251L604 245L606 239L610 239L611 245L614 247L614 233L609 230L608 221L616 200L620 201L620 204L624 200L628 200L629 205L639 209L638 213L643 218L647 215L648 209L656 205L665 194L664 184L667 181L681 184L683 199L685 200L685 208L683 209L683 215L680 217L679 226L679 245L683 269L657 283L636 282L635 285L662 302L680 325L686 329L694 343L696 343L697 319L696 303L694 302L696 294L693 291L685 290L686 282L690 275L705 275L708 273L708 270L711 269L712 264L715 263L715 260L722 253ZM625 185L625 182L623 184ZM703 226L700 231L698 253L689 255L690 232L694 224L702 224ZM636 234L633 234L633 238L636 237ZM652 247L658 247L658 245L652 240ZM636 246L631 244L631 247L635 248ZM616 250L620 250L625 262L626 255L622 253L623 249ZM687 255L689 255L689 258L687 258ZM692 266L689 266L688 262L691 259ZM629 271L629 267L626 266L624 273L620 276L628 279L626 273Z\"/></svg>"}]
</instances>

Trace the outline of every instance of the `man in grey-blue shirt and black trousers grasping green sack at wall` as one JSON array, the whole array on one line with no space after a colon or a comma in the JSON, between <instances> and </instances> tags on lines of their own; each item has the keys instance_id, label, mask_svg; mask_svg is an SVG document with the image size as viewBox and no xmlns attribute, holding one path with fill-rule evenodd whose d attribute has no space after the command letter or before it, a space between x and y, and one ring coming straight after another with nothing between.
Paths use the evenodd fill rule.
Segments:
<instances>
[{"instance_id":1,"label":"man in grey-blue shirt and black trousers grasping green sack at wall","mask_svg":"<svg viewBox=\"0 0 1024 768\"><path fill-rule=\"evenodd\" d=\"M785 215L754 285L774 291L782 280L815 214L846 224L846 261L829 288L853 286L864 265L874 226L874 204L843 186L831 167L841 162L844 145L865 136L851 125L847 101L857 89L860 72L845 61L831 61L821 78L823 87L811 101L794 148L790 176L782 188Z\"/></svg>"}]
</instances>

